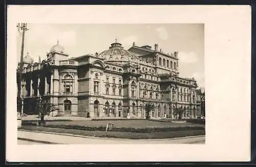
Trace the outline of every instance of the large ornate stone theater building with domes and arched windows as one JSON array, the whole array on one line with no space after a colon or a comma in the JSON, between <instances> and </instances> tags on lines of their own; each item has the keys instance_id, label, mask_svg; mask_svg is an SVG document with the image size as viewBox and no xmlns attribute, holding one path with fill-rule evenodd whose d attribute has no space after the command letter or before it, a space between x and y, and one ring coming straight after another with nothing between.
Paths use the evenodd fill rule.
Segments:
<instances>
[{"instance_id":1,"label":"large ornate stone theater building with domes and arched windows","mask_svg":"<svg viewBox=\"0 0 256 167\"><path fill-rule=\"evenodd\" d=\"M178 52L151 46L125 50L115 41L100 53L71 58L59 42L47 60L24 58L21 94L24 113L34 114L39 97L59 110L52 116L145 118L144 106L154 104L154 118L197 118L197 82L179 77Z\"/></svg>"}]
</instances>

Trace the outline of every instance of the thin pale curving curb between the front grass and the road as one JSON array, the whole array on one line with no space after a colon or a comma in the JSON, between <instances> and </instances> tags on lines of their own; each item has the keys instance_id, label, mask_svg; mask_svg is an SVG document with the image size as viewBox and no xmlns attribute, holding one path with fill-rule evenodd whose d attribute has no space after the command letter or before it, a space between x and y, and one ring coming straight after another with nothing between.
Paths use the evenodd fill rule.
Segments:
<instances>
[{"instance_id":1,"label":"thin pale curving curb between the front grass and the road","mask_svg":"<svg viewBox=\"0 0 256 167\"><path fill-rule=\"evenodd\" d=\"M37 131L37 130L25 130L25 129L18 129L19 131L27 131L27 132L36 132L36 133L48 133L48 134L57 134L57 135L66 135L66 136L73 136L73 137L83 137L83 138L94 138L94 139L101 139L101 140L122 140L122 141L166 141L166 140L179 140L184 138L196 138L196 137L203 137L205 135L196 135L196 136L185 136L185 137L175 137L175 138L152 138L152 139L130 139L130 138L103 138L103 137L93 137L93 136L84 136L78 134L70 134L70 133L56 133L56 132L46 132L46 131Z\"/></svg>"}]
</instances>

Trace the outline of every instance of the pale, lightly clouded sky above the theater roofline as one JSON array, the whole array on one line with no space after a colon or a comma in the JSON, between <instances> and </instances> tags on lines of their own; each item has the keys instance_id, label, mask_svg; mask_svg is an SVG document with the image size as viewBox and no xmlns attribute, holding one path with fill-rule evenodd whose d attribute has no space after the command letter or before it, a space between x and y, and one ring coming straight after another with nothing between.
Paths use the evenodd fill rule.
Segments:
<instances>
[{"instance_id":1,"label":"pale, lightly clouded sky above the theater roofline","mask_svg":"<svg viewBox=\"0 0 256 167\"><path fill-rule=\"evenodd\" d=\"M180 77L194 77L204 87L204 24L27 24L24 57L27 52L38 61L59 41L69 57L109 49L115 39L124 49L150 45L164 53L179 51ZM22 36L17 30L17 60L20 61Z\"/></svg>"}]
</instances>

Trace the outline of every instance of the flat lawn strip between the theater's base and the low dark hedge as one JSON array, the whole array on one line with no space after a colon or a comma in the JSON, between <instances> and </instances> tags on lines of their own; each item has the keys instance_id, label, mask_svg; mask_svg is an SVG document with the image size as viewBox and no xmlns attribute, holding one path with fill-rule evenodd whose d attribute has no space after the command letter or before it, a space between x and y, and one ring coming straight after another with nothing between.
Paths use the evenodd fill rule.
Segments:
<instances>
[{"instance_id":1,"label":"flat lawn strip between the theater's base and the low dark hedge","mask_svg":"<svg viewBox=\"0 0 256 167\"><path fill-rule=\"evenodd\" d=\"M109 120L109 121L89 121L89 120L75 120L75 121L58 121L47 122L47 125L78 125L78 126L90 126L90 127L105 127L107 123L114 123L116 128L131 127L131 128L163 128L163 127L186 127L186 126L199 126L204 127L201 124L192 123L173 123L173 122L156 122L148 120Z\"/></svg>"}]
</instances>

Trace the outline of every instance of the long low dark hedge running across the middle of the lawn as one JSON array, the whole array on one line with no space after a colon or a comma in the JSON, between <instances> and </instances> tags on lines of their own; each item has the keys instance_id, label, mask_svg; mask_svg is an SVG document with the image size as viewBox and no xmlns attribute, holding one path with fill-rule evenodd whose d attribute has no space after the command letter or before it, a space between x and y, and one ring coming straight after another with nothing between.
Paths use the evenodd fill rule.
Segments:
<instances>
[{"instance_id":1,"label":"long low dark hedge running across the middle of the lawn","mask_svg":"<svg viewBox=\"0 0 256 167\"><path fill-rule=\"evenodd\" d=\"M106 130L105 126L79 126L79 125L47 125L45 127L50 128L62 128L62 129L77 129L77 130ZM123 132L139 132L139 133L151 133L151 132L164 132L164 131L179 131L179 130L200 130L205 129L204 127L198 126L186 126L186 127L162 127L162 128L132 128L132 127L113 127L112 131L123 131Z\"/></svg>"}]
</instances>

